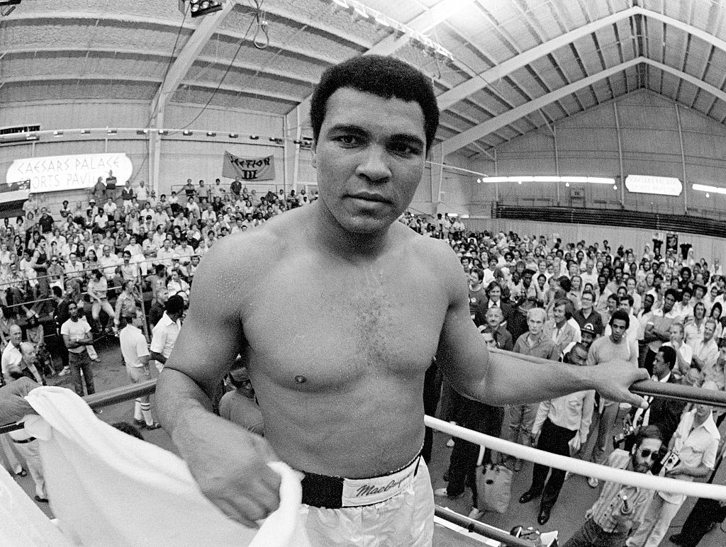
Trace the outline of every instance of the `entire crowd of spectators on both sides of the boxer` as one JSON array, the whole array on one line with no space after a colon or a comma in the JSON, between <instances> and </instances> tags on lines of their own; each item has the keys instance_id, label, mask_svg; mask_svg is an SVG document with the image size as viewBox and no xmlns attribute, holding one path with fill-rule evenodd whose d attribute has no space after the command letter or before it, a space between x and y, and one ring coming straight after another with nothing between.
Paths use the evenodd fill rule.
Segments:
<instances>
[{"instance_id":1,"label":"entire crowd of spectators on both sides of the boxer","mask_svg":"<svg viewBox=\"0 0 726 547\"><path fill-rule=\"evenodd\" d=\"M70 207L64 201L57 213L30 196L23 215L0 222L0 350L12 336L22 337L36 347L33 358L40 366L34 379L43 380L37 374L65 374L68 348L63 347L60 327L70 318L69 304L78 308L78 316L94 336L118 334L119 323L126 325L123 318L134 317L141 309L148 338L169 297L179 295L188 305L196 268L217 239L252 229L314 199L305 190L258 195L239 181L227 188L219 179L209 186L188 179L179 192L158 197L143 181L109 189L99 179L87 202ZM617 344L622 335L627 340L624 359L645 367L654 378L663 361L661 347L672 347L669 377L696 386L705 381L724 390L726 349L719 348L726 346L726 317L722 318L726 276L718 258L709 265L704 258L696 260L690 245L682 255L657 240L652 249L619 245L613 250L608 241L564 243L544 235L474 232L461 218L441 214L426 218L405 213L399 220L423 236L444 240L460 258L468 278L472 319L491 347L550 359L571 355L573 363L592 364L603 360L600 353L607 346L595 344L600 349L591 350L596 339ZM56 343L46 344L49 337ZM666 352L666 358L670 355ZM89 356L94 356L90 346ZM54 359L58 357L64 366L58 366ZM155 354L152 358L163 361ZM0 382L3 377L7 380L3 374ZM581 399L582 405L592 406L590 395ZM510 408L505 436L525 444L539 437L540 445L546 445L540 434L543 424L542 431L549 432L560 431L553 429L560 424L551 423L556 412L552 419L549 416L559 403L545 403ZM560 429L567 439L577 441L580 457L587 437L596 435L590 457L605 463L613 448L605 441L617 432L627 412L621 413L617 405L608 410L604 400L597 405L599 409L581 412L569 429L569 424ZM690 408L679 409L669 434L681 411ZM464 400L446 382L441 412L465 427L502 435L505 411ZM587 420L582 419L586 415ZM590 416L594 418L588 430ZM255 427L261 429L258 421ZM664 438L664 445L668 440ZM454 446L446 477L451 482L437 493L460 495L466 482L475 490L476 506L469 468L472 460L476 463L478 447L462 441L449 445ZM430 451L429 447L429 457ZM492 453L485 461L499 461L515 471L522 465L495 459ZM539 474L545 477L547 471ZM563 481L557 477L555 499ZM543 481L533 480L533 485ZM530 498L536 495L532 490ZM549 510L544 522L547 518Z\"/></svg>"}]
</instances>

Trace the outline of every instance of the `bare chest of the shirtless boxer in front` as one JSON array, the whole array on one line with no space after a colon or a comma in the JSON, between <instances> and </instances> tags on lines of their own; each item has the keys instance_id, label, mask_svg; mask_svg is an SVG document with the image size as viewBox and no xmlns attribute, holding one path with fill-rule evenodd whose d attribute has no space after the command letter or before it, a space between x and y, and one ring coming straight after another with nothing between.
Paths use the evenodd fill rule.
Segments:
<instances>
[{"instance_id":1,"label":"bare chest of the shirtless boxer in front","mask_svg":"<svg viewBox=\"0 0 726 547\"><path fill-rule=\"evenodd\" d=\"M250 297L244 318L253 358L287 384L309 388L425 370L436 354L446 298L409 268L280 268Z\"/></svg>"}]
</instances>

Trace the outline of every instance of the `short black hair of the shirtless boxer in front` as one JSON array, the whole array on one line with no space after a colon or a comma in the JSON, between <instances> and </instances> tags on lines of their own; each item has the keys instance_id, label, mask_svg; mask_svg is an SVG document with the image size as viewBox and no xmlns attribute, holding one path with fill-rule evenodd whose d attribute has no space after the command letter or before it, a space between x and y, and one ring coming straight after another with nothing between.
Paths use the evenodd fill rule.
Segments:
<instances>
[{"instance_id":1,"label":"short black hair of the shirtless boxer in front","mask_svg":"<svg viewBox=\"0 0 726 547\"><path fill-rule=\"evenodd\" d=\"M407 62L382 55L360 55L325 70L310 102L310 122L316 142L325 119L327 99L346 87L385 99L396 97L417 102L423 110L428 153L439 127L439 106L431 81Z\"/></svg>"}]
</instances>

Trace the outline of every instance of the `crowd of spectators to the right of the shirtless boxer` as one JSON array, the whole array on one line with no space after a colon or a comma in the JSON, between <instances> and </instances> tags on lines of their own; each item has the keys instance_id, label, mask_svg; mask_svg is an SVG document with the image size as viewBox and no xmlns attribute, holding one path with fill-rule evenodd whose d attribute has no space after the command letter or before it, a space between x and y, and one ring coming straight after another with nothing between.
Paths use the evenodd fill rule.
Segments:
<instances>
[{"instance_id":1,"label":"crowd of spectators to the right of the shirtless boxer","mask_svg":"<svg viewBox=\"0 0 726 547\"><path fill-rule=\"evenodd\" d=\"M430 219L406 213L400 221L425 237L444 240L460 258L471 317L491 347L574 366L619 359L647 369L658 382L725 389L726 276L719 258L710 264L705 258L697 260L691 244L677 245L672 237L656 236L653 247L634 250L608 241L562 242L544 235L468 231L461 218L448 215ZM705 477L714 468L717 428L726 417L710 406L652 397L644 412L595 392L512 406L505 413L462 398L442 380L441 415L463 427L610 466L627 466L632 447L633 465L641 472L651 466L657 470L656 460L674 454L679 463L664 466L661 474L680 480ZM438 396L436 388L425 392ZM432 408L431 401L427 408ZM648 438L658 439L648 441L648 446L661 447L657 454L642 445L646 437L632 440L646 429ZM624 446L616 448L613 437L620 437ZM448 446L453 447L444 475L448 484L436 489L436 495L458 498L468 486L474 507L470 517L480 518L478 446L453 439ZM650 461L643 453L650 453ZM523 466L521 460L494 458L486 451L488 462L513 472ZM534 466L531 487L519 502L541 498L539 525L550 519L564 480L564 472ZM593 477L587 482L598 486ZM568 546L621 545L626 540L629 547L657 546L685 496L640 490L627 494L637 496L635 512L632 506L627 511L627 504L623 507L620 485L608 483L605 501L599 502L607 509L596 503L586 516L587 531L582 533L590 540L578 535ZM673 540L690 545L683 537Z\"/></svg>"}]
</instances>

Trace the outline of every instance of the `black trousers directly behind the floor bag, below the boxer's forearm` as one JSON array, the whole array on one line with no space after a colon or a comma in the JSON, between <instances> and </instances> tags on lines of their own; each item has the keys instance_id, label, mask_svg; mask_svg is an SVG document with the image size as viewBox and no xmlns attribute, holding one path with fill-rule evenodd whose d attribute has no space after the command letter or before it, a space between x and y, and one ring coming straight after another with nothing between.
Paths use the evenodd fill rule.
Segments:
<instances>
[{"instance_id":1,"label":"black trousers directly behind the floor bag, below the boxer's forearm","mask_svg":"<svg viewBox=\"0 0 726 547\"><path fill-rule=\"evenodd\" d=\"M502 435L504 408L489 406L477 400L461 398L461 406L457 412L457 424L473 429L485 435L499 437ZM457 439L449 459L449 485L446 495L455 497L464 491L466 485L474 494L473 506L476 506L476 460L479 456L479 445L468 440ZM484 463L492 461L489 449L484 453Z\"/></svg>"}]
</instances>

